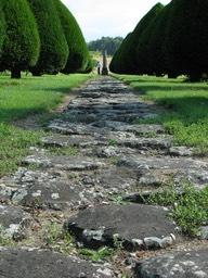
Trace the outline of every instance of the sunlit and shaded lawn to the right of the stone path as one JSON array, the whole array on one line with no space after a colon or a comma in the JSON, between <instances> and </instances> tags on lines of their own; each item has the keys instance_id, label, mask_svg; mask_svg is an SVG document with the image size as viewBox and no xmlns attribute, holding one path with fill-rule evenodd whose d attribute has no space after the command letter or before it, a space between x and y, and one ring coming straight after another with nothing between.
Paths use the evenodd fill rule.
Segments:
<instances>
[{"instance_id":1,"label":"sunlit and shaded lawn to the right of the stone path","mask_svg":"<svg viewBox=\"0 0 208 278\"><path fill-rule=\"evenodd\" d=\"M174 144L194 147L197 154L208 155L207 83L185 83L182 77L115 76L132 87L143 99L153 100L168 109L154 123L161 123L174 135Z\"/></svg>"}]
</instances>

